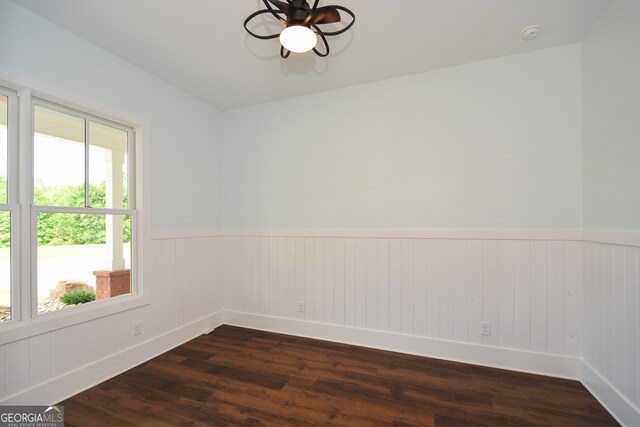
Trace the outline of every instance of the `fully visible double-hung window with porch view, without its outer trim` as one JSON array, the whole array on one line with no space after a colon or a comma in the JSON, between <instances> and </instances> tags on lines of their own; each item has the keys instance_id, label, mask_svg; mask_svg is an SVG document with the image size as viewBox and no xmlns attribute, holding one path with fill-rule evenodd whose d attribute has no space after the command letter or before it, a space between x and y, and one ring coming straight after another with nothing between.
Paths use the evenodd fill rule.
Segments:
<instances>
[{"instance_id":1,"label":"fully visible double-hung window with porch view, without its outer trim","mask_svg":"<svg viewBox=\"0 0 640 427\"><path fill-rule=\"evenodd\" d=\"M34 100L38 314L131 293L132 153L131 128Z\"/></svg>"}]
</instances>

